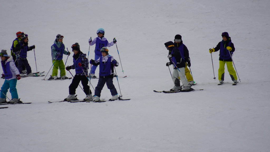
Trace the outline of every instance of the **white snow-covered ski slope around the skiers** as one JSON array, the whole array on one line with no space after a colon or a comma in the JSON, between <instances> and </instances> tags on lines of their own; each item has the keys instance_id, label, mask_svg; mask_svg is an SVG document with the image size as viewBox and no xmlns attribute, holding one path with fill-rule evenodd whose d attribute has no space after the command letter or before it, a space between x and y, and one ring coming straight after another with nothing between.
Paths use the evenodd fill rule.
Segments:
<instances>
[{"instance_id":1,"label":"white snow-covered ski slope around the skiers","mask_svg":"<svg viewBox=\"0 0 270 152\"><path fill-rule=\"evenodd\" d=\"M88 39L104 28L109 42L117 39L124 74L121 65L116 72L127 75L118 78L119 85L123 98L131 99L49 104L69 95L72 80L22 78L17 82L19 98L32 104L0 105L9 107L0 109L1 152L270 151L269 0L1 0L0 4L0 49L9 53L16 32L25 32L29 46L36 46L38 71L49 72L46 79L52 72L50 47L57 34L64 35L70 52L78 42L88 55ZM236 48L233 59L241 79L236 86L227 68L223 85L213 79L208 50L225 31ZM164 43L176 34L182 35L190 52L198 83L192 88L203 91L153 92L173 87ZM90 47L89 60L94 59L94 48ZM108 49L120 62L116 46ZM218 54L212 54L216 78ZM28 52L33 72L35 56L33 50ZM72 64L70 56L66 65ZM66 75L72 77L68 71ZM117 79L113 81L120 95ZM94 87L97 82L91 79ZM86 96L80 87L76 94L79 99ZM11 98L9 92L7 96ZM106 85L101 98L111 98Z\"/></svg>"}]
</instances>

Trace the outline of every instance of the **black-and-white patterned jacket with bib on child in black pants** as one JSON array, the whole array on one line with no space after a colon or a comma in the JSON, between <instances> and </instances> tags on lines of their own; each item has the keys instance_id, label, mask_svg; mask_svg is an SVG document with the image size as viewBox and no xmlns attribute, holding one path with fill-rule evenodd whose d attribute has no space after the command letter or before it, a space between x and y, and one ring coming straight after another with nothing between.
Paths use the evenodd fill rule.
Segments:
<instances>
[{"instance_id":1,"label":"black-and-white patterned jacket with bib on child in black pants","mask_svg":"<svg viewBox=\"0 0 270 152\"><path fill-rule=\"evenodd\" d=\"M83 71L85 72L85 74L88 73L88 69L89 69L89 62L88 62L88 59L86 58L86 54L83 54L83 52L78 52L80 53L79 54L79 57L78 58L74 58L74 55L73 55L73 65L71 65L72 69L76 69L78 70L79 68L81 69L81 67L79 67L78 65L78 61L80 61L80 63L83 64ZM76 61L78 63L76 63ZM85 75L82 71L76 71L76 75Z\"/></svg>"}]
</instances>

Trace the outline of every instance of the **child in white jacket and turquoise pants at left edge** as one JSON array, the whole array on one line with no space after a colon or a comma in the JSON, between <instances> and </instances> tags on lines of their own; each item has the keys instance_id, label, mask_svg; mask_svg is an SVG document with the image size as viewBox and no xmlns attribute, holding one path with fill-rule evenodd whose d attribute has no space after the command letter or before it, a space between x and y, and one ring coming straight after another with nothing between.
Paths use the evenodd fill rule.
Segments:
<instances>
[{"instance_id":1,"label":"child in white jacket and turquoise pants at left edge","mask_svg":"<svg viewBox=\"0 0 270 152\"><path fill-rule=\"evenodd\" d=\"M2 50L0 53L1 56L1 64L3 68L4 74L2 74L2 78L5 79L4 84L1 87L1 92L0 92L0 103L5 103L6 102L6 93L9 92L11 93L12 99L9 101L11 103L19 103L19 98L18 98L18 92L16 89L17 85L17 80L21 79L20 72L16 68L13 58L11 55L8 55L6 53L6 50Z\"/></svg>"}]
</instances>

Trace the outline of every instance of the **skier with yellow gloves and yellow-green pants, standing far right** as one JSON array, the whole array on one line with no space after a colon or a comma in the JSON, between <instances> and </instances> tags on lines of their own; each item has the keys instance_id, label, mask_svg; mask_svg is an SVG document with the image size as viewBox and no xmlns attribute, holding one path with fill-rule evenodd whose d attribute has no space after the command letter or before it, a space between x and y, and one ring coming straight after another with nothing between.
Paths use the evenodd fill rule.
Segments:
<instances>
[{"instance_id":1,"label":"skier with yellow gloves and yellow-green pants, standing far right","mask_svg":"<svg viewBox=\"0 0 270 152\"><path fill-rule=\"evenodd\" d=\"M218 45L213 48L209 49L209 53L217 52L220 50L220 65L218 69L218 80L220 83L218 85L222 85L224 81L224 70L225 64L227 64L228 72L231 76L232 81L234 82L233 85L237 84L237 76L236 72L234 71L234 67L232 66L232 58L233 52L235 51L234 44L231 41L231 37L229 37L228 32L223 32L221 34L222 41L218 43Z\"/></svg>"}]
</instances>

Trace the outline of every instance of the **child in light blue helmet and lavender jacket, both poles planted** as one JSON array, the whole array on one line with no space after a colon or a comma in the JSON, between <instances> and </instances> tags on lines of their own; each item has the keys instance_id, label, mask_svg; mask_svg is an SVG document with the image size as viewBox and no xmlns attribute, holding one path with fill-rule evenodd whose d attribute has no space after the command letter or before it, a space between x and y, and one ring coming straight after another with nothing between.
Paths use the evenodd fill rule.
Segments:
<instances>
[{"instance_id":1,"label":"child in light blue helmet and lavender jacket, both poles planted","mask_svg":"<svg viewBox=\"0 0 270 152\"><path fill-rule=\"evenodd\" d=\"M114 38L112 42L108 42L108 40L106 38L104 38L104 34L105 31L103 28L99 28L97 29L97 36L96 38L93 39L92 38L89 39L89 45L94 45L96 44L95 47L95 60L97 60L98 58L102 57L102 54L100 52L100 49L102 47L111 47L114 45L114 43L116 43L116 39ZM95 71L96 71L97 66L93 65L91 68L91 73L89 73L89 77L91 76L92 78L96 78L95 76Z\"/></svg>"}]
</instances>

